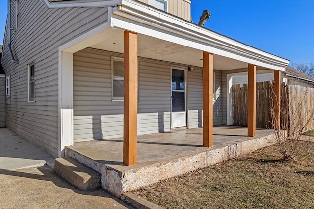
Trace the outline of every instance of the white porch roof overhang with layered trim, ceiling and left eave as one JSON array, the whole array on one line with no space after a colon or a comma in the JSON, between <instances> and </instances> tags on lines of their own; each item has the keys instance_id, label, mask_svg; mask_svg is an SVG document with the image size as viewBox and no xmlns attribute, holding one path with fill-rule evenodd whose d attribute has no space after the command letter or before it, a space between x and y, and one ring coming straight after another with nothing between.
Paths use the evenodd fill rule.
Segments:
<instances>
[{"instance_id":1,"label":"white porch roof overhang with layered trim, ceiling and left eave","mask_svg":"<svg viewBox=\"0 0 314 209\"><path fill-rule=\"evenodd\" d=\"M202 51L207 51L214 54L216 70L247 68L250 63L285 71L289 64L289 60L136 0L44 1L50 8L108 7L108 21L62 46L65 51L94 47L123 53L123 31L129 30L139 34L139 56L147 58L202 67Z\"/></svg>"}]
</instances>

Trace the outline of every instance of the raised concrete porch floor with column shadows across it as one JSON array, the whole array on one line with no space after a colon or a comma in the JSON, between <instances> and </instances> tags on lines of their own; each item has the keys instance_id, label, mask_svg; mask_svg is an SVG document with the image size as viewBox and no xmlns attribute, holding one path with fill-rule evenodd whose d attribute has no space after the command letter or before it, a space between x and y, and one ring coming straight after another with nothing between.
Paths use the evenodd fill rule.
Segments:
<instances>
[{"instance_id":1,"label":"raised concrete porch floor with column shadows across it","mask_svg":"<svg viewBox=\"0 0 314 209\"><path fill-rule=\"evenodd\" d=\"M203 129L180 129L165 133L139 135L137 141L137 163L146 163L178 156L193 151L206 151L230 143L242 142L266 136L267 129L257 129L256 137L247 137L246 127L215 126L213 147L203 147ZM70 149L105 164L123 165L123 138L74 143Z\"/></svg>"}]
</instances>

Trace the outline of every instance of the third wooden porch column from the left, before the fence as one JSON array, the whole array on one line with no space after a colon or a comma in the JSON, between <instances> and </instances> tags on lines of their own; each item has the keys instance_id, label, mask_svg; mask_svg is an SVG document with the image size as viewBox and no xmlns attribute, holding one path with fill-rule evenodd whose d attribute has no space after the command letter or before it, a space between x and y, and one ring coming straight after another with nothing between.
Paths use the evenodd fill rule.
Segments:
<instances>
[{"instance_id":1,"label":"third wooden porch column from the left, before the fence","mask_svg":"<svg viewBox=\"0 0 314 209\"><path fill-rule=\"evenodd\" d=\"M255 136L256 128L256 65L248 64L247 136Z\"/></svg>"}]
</instances>

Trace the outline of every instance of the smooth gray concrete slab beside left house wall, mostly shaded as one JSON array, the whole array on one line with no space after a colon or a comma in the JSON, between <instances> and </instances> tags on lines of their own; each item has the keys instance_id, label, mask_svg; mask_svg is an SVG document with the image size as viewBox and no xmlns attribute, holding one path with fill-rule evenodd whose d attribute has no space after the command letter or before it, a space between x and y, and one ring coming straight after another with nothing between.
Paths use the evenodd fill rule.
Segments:
<instances>
[{"instance_id":1,"label":"smooth gray concrete slab beside left house wall, mostly shaded","mask_svg":"<svg viewBox=\"0 0 314 209\"><path fill-rule=\"evenodd\" d=\"M53 167L54 158L39 146L19 137L8 128L0 129L0 172L45 164Z\"/></svg>"}]
</instances>

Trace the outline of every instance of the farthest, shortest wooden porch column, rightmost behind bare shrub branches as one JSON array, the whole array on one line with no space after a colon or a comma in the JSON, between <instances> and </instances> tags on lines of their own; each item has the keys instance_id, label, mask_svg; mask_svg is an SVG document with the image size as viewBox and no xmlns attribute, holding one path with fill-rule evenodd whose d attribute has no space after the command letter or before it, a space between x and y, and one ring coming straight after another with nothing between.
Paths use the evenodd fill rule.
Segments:
<instances>
[{"instance_id":1,"label":"farthest, shortest wooden porch column, rightmost behind bare shrub branches","mask_svg":"<svg viewBox=\"0 0 314 209\"><path fill-rule=\"evenodd\" d=\"M279 70L274 70L274 128L275 130L280 129L280 91L281 91L281 73Z\"/></svg>"}]
</instances>

